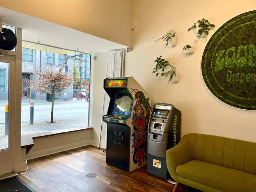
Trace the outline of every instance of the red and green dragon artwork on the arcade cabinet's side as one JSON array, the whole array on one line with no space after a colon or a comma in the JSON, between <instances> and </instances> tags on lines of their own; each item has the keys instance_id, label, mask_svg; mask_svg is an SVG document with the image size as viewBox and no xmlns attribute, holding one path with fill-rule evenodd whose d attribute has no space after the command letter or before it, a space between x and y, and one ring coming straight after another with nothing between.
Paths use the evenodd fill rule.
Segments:
<instances>
[{"instance_id":1,"label":"red and green dragon artwork on the arcade cabinet's side","mask_svg":"<svg viewBox=\"0 0 256 192\"><path fill-rule=\"evenodd\" d=\"M132 88L131 88L132 89ZM133 162L141 166L147 161L147 126L150 119L149 98L145 98L142 91L132 89L135 92L135 105L132 114L132 147Z\"/></svg>"}]
</instances>

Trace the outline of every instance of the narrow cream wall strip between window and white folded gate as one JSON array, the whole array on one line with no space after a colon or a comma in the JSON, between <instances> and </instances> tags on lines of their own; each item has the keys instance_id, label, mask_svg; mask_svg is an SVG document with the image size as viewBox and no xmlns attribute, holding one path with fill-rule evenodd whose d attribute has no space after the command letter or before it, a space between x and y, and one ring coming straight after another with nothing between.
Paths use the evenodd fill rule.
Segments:
<instances>
[{"instance_id":1,"label":"narrow cream wall strip between window and white folded gate","mask_svg":"<svg viewBox=\"0 0 256 192\"><path fill-rule=\"evenodd\" d=\"M93 62L93 128L99 138L104 97L103 79L106 77L108 53L94 53L94 56L96 60Z\"/></svg>"}]
</instances>

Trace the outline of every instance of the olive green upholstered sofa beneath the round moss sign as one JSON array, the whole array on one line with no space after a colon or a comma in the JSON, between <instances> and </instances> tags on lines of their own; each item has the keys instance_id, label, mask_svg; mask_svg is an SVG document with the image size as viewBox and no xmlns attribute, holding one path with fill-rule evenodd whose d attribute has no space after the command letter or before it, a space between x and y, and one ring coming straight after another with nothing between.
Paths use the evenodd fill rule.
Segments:
<instances>
[{"instance_id":1,"label":"olive green upholstered sofa beneath the round moss sign","mask_svg":"<svg viewBox=\"0 0 256 192\"><path fill-rule=\"evenodd\" d=\"M256 143L191 133L166 151L172 178L206 192L256 192Z\"/></svg>"}]
</instances>

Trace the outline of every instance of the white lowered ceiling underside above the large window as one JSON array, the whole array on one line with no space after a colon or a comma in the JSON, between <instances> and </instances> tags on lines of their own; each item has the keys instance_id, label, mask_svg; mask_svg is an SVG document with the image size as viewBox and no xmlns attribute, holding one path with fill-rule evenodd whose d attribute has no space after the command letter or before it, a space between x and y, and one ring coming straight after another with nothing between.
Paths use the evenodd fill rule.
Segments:
<instances>
[{"instance_id":1,"label":"white lowered ceiling underside above the large window","mask_svg":"<svg viewBox=\"0 0 256 192\"><path fill-rule=\"evenodd\" d=\"M46 20L0 7L0 18L4 25L23 29L22 40L39 42L79 52L106 52L126 46L70 29ZM78 18L79 19L79 18ZM97 25L95 23L95 25Z\"/></svg>"}]
</instances>

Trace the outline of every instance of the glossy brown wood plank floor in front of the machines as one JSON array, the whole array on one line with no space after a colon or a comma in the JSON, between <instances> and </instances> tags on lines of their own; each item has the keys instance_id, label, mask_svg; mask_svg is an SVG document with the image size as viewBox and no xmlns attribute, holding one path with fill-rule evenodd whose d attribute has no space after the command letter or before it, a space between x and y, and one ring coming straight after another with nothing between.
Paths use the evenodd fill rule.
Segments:
<instances>
[{"instance_id":1,"label":"glossy brown wood plank floor in front of the machines","mask_svg":"<svg viewBox=\"0 0 256 192\"><path fill-rule=\"evenodd\" d=\"M94 146L47 155L27 162L19 178L37 192L172 191L174 185L147 173L147 166L125 172L105 163L106 154ZM96 173L97 177L86 177ZM194 191L179 185L177 192Z\"/></svg>"}]
</instances>

